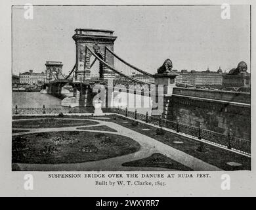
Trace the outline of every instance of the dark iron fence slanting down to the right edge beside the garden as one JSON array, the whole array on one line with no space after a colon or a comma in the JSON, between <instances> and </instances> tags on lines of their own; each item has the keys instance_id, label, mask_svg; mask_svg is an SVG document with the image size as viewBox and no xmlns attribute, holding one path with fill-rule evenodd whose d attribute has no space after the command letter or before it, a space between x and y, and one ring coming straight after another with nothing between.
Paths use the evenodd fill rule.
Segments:
<instances>
[{"instance_id":1,"label":"dark iron fence slanting down to the right edge beside the garden","mask_svg":"<svg viewBox=\"0 0 256 210\"><path fill-rule=\"evenodd\" d=\"M131 112L127 110L127 108L116 108L114 112L116 112L117 114L121 114L122 116L137 119L139 121L144 121L145 123L149 123L151 125L170 129L172 131L175 131L176 133L182 133L183 135L187 135L189 137L198 138L199 140L210 142L211 144L215 144L223 148L228 148L242 154L246 154L249 156L251 155L250 140L233 137L230 134L224 135L215 131L202 129L201 127L185 125L182 123L178 123L177 121L170 121L161 117L148 116L148 112L146 112L146 114L139 114L137 113L137 110L135 110L135 112Z\"/></svg>"}]
</instances>

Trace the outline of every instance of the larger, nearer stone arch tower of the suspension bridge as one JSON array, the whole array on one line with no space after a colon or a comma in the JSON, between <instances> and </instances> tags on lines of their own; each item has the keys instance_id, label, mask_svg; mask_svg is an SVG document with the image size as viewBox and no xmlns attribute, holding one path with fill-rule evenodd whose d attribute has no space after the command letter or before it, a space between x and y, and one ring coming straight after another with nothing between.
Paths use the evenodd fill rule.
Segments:
<instances>
[{"instance_id":1,"label":"larger, nearer stone arch tower of the suspension bridge","mask_svg":"<svg viewBox=\"0 0 256 210\"><path fill-rule=\"evenodd\" d=\"M106 53L105 47L114 51L114 41L117 37L113 35L114 31L98 29L81 29L77 28L73 39L76 47L76 66L75 79L90 79L91 53L86 51L86 46L93 50L102 60L114 66L114 56ZM115 74L102 64L99 69L100 79L114 77Z\"/></svg>"}]
</instances>

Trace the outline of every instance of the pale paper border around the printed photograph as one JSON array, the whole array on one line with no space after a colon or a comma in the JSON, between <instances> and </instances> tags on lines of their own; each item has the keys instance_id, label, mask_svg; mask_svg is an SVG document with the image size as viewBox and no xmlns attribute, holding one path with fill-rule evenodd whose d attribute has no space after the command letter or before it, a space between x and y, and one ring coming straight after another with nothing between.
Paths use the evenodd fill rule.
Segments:
<instances>
[{"instance_id":1,"label":"pale paper border around the printed photograph","mask_svg":"<svg viewBox=\"0 0 256 210\"><path fill-rule=\"evenodd\" d=\"M11 5L207 5L230 3L251 4L251 38L255 36L254 1L1 1L1 56L0 56L0 196L255 196L255 160L252 155L252 171L213 171L210 179L165 179L167 187L116 187L95 186L92 179L48 179L49 172L31 172L34 190L24 190L24 175L30 172L11 171ZM255 42L251 41L251 70L254 69ZM251 71L251 127L254 127L255 74ZM255 131L252 129L252 154L255 152ZM54 172L56 173L56 172ZM90 172L91 173L91 172ZM111 172L110 172L111 173ZM110 174L106 172L105 174ZM117 172L115 172L117 173ZM122 172L120 172L122 173ZM142 174L145 172L138 172ZM149 173L149 172L148 172ZM154 172L160 173L160 172ZM166 172L163 172L166 173ZM187 172L196 175L197 172ZM221 175L231 177L230 190L221 190Z\"/></svg>"}]
</instances>

